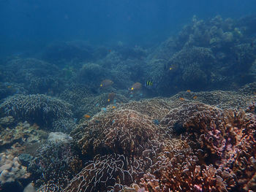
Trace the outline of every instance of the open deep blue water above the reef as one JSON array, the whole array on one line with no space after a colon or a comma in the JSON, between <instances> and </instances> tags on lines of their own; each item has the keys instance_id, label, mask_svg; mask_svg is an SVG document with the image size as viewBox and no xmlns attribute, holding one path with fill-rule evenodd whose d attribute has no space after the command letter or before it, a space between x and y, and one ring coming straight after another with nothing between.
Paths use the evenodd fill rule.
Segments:
<instances>
[{"instance_id":1,"label":"open deep blue water above the reef","mask_svg":"<svg viewBox=\"0 0 256 192\"><path fill-rule=\"evenodd\" d=\"M192 19L255 14L256 0L0 0L0 51L53 41L151 45Z\"/></svg>"}]
</instances>

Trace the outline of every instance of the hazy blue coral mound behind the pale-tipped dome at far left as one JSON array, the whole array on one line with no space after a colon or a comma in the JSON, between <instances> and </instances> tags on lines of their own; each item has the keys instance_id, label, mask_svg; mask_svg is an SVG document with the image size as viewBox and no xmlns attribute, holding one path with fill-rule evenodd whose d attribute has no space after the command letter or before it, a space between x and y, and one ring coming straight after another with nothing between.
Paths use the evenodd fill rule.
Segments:
<instances>
[{"instance_id":1,"label":"hazy blue coral mound behind the pale-tipped dome at far left","mask_svg":"<svg viewBox=\"0 0 256 192\"><path fill-rule=\"evenodd\" d=\"M15 58L4 68L4 82L21 83L29 93L60 91L64 82L59 78L60 69L35 58Z\"/></svg>"}]
</instances>

